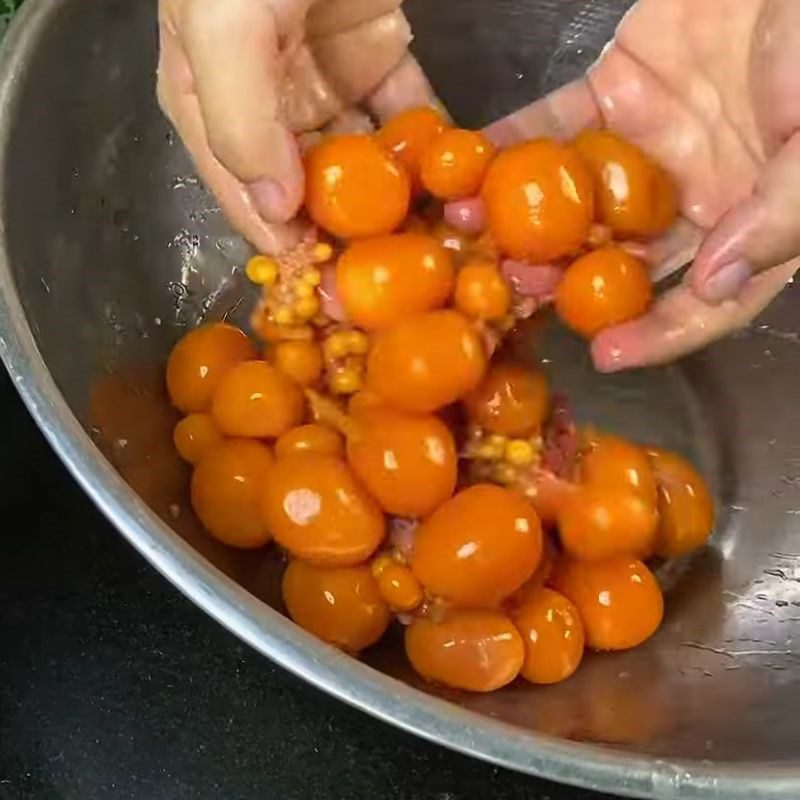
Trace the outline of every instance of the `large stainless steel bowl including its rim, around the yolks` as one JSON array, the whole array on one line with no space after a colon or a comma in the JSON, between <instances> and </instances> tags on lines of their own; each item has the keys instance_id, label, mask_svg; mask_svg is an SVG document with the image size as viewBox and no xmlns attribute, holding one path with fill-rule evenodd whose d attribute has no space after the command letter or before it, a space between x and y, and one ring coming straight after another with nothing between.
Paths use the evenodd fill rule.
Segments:
<instances>
[{"instance_id":1,"label":"large stainless steel bowl including its rim, around the yolks","mask_svg":"<svg viewBox=\"0 0 800 800\"><path fill-rule=\"evenodd\" d=\"M442 5L409 0L418 52L475 125L585 68L626 4ZM797 288L749 330L667 370L602 379L583 346L547 339L553 380L582 418L683 450L716 487L713 546L661 575L668 614L651 643L593 656L562 686L488 697L431 694L396 641L366 663L346 657L282 616L274 556L215 544L184 506L165 354L202 319L244 318L251 293L246 247L155 106L154 6L28 0L0 65L0 351L88 494L222 624L387 722L614 793L800 796Z\"/></svg>"}]
</instances>

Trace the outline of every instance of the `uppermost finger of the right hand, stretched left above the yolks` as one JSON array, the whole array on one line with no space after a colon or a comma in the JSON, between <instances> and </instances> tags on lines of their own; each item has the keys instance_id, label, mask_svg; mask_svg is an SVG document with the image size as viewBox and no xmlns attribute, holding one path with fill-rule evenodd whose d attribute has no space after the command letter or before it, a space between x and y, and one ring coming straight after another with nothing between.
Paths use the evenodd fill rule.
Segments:
<instances>
[{"instance_id":1,"label":"uppermost finger of the right hand, stretched left above the yolks","mask_svg":"<svg viewBox=\"0 0 800 800\"><path fill-rule=\"evenodd\" d=\"M585 128L597 127L601 118L591 86L581 79L495 122L485 132L499 147L510 147L538 136L571 139Z\"/></svg>"}]
</instances>

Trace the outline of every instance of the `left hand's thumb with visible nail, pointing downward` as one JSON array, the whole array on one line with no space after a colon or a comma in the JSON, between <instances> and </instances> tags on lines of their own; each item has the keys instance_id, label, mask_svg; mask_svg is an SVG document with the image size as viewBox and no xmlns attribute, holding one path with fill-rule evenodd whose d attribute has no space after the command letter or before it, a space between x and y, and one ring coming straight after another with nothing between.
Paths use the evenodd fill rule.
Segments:
<instances>
[{"instance_id":1,"label":"left hand's thumb with visible nail, pointing downward","mask_svg":"<svg viewBox=\"0 0 800 800\"><path fill-rule=\"evenodd\" d=\"M294 137L278 120L273 4L199 0L185 8L180 38L209 146L265 220L287 222L302 202L303 167Z\"/></svg>"}]
</instances>

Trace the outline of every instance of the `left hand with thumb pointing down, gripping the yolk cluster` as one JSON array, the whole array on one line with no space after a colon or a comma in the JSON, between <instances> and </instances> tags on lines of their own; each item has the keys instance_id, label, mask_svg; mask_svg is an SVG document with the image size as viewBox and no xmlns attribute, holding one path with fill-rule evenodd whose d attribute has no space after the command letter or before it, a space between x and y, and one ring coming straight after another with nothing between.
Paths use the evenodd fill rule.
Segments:
<instances>
[{"instance_id":1,"label":"left hand with thumb pointing down, gripping the yolk cluster","mask_svg":"<svg viewBox=\"0 0 800 800\"><path fill-rule=\"evenodd\" d=\"M160 0L158 98L231 224L259 251L302 231L297 134L433 100L402 0Z\"/></svg>"}]
</instances>

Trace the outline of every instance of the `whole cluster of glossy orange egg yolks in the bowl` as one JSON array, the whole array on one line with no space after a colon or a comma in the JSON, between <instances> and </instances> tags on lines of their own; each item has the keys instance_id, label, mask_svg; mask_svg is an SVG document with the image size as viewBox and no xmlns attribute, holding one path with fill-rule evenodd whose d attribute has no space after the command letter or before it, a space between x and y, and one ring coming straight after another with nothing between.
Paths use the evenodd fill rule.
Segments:
<instances>
[{"instance_id":1,"label":"whole cluster of glossy orange egg yolks in the bowl","mask_svg":"<svg viewBox=\"0 0 800 800\"><path fill-rule=\"evenodd\" d=\"M647 563L713 527L703 479L594 432L568 476L548 471L549 382L488 342L513 324L504 257L563 266L556 310L587 337L643 313L644 265L613 241L669 226L666 175L605 131L498 152L433 109L329 137L306 169L330 238L247 264L262 345L213 323L169 358L201 523L282 549L306 630L357 654L399 619L411 665L448 687L557 683L587 648L646 641L663 615ZM480 198L487 230L453 231L429 197Z\"/></svg>"}]
</instances>

